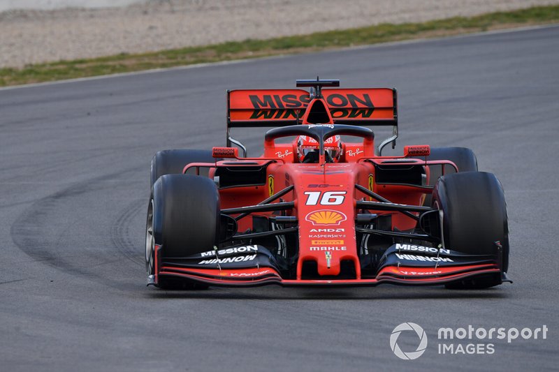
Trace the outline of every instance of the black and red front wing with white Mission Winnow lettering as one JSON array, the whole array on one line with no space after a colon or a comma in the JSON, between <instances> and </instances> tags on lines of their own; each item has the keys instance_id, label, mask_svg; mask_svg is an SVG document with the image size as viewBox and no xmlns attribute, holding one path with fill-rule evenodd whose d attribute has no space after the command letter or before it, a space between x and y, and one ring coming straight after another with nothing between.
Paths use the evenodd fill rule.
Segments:
<instances>
[{"instance_id":1,"label":"black and red front wing with white Mission Winnow lettering","mask_svg":"<svg viewBox=\"0 0 559 372\"><path fill-rule=\"evenodd\" d=\"M252 248L247 250L248 248ZM404 248L402 250L402 247ZM238 250L240 248L240 251ZM442 285L464 279L499 277L509 281L500 269L502 253L465 255L451 250L433 252L406 251L406 244L394 244L386 250L375 276L365 278L284 278L274 256L263 246L229 248L229 252L210 251L189 258L161 260L161 246L156 246L156 274L148 285L157 285L161 277L183 278L193 283L227 287L260 285L282 286L375 286L382 283L398 285ZM237 251L235 251L237 250ZM441 253L444 251L444 253Z\"/></svg>"}]
</instances>

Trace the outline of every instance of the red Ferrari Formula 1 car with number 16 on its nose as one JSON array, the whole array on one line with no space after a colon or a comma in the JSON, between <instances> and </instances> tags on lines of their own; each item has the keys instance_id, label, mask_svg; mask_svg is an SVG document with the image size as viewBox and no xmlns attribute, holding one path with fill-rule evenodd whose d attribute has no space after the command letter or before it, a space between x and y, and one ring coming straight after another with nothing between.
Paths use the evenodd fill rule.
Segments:
<instances>
[{"instance_id":1,"label":"red Ferrari Formula 1 car with number 16 on its nose","mask_svg":"<svg viewBox=\"0 0 559 372\"><path fill-rule=\"evenodd\" d=\"M382 156L398 137L395 89L339 85L298 80L309 91L228 91L227 147L154 156L148 284L509 281L498 179L478 172L473 152L461 147L407 146L402 156ZM365 126L386 125L393 135L375 149ZM263 155L249 158L230 135L235 127L275 128L264 135Z\"/></svg>"}]
</instances>

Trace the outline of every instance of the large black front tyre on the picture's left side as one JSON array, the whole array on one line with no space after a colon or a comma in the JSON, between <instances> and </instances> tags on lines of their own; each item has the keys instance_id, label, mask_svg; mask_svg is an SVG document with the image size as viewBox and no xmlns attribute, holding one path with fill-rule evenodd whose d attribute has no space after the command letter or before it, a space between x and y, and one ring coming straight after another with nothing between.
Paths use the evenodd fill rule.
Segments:
<instances>
[{"instance_id":1,"label":"large black front tyre on the picture's left side","mask_svg":"<svg viewBox=\"0 0 559 372\"><path fill-rule=\"evenodd\" d=\"M219 193L205 177L164 174L155 182L147 212L146 268L154 273L154 246L161 258L184 258L211 251L219 239ZM160 278L159 287L199 288L175 278Z\"/></svg>"}]
</instances>

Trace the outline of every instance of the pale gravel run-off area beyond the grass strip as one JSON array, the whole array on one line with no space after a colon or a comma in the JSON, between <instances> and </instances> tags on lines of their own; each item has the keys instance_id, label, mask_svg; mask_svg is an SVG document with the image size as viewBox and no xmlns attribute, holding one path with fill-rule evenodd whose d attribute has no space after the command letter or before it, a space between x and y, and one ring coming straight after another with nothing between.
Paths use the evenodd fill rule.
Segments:
<instances>
[{"instance_id":1,"label":"pale gravel run-off area beyond the grass strip","mask_svg":"<svg viewBox=\"0 0 559 372\"><path fill-rule=\"evenodd\" d=\"M122 8L6 10L0 67L550 4L559 0L150 0Z\"/></svg>"}]
</instances>

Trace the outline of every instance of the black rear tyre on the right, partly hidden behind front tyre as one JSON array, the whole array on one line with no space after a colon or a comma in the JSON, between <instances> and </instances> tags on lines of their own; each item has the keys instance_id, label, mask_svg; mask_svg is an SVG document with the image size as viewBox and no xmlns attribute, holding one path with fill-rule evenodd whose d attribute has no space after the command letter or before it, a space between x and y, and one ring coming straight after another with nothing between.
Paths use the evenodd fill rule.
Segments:
<instances>
[{"instance_id":1,"label":"black rear tyre on the right, partly hidden behind front tyre","mask_svg":"<svg viewBox=\"0 0 559 372\"><path fill-rule=\"evenodd\" d=\"M477 158L474 151L467 147L433 147L427 160L449 160L456 164L458 172L477 172ZM429 186L434 186L437 179L442 176L442 166L430 166L429 173ZM451 165L444 165L444 174L452 173L456 173L456 170ZM432 200L432 195L427 194L423 205L430 207Z\"/></svg>"}]
</instances>

